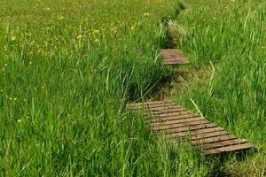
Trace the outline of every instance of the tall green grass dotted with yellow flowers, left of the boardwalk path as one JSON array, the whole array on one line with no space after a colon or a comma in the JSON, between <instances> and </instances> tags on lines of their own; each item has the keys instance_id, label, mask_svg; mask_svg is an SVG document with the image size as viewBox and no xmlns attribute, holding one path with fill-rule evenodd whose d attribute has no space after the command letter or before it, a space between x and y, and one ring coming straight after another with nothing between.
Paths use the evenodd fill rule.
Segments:
<instances>
[{"instance_id":1,"label":"tall green grass dotted with yellow flowers, left of the boardwalk path","mask_svg":"<svg viewBox=\"0 0 266 177\"><path fill-rule=\"evenodd\" d=\"M166 75L156 50L175 1L1 1L2 176L199 176L127 100ZM174 158L175 157L175 158Z\"/></svg>"}]
</instances>

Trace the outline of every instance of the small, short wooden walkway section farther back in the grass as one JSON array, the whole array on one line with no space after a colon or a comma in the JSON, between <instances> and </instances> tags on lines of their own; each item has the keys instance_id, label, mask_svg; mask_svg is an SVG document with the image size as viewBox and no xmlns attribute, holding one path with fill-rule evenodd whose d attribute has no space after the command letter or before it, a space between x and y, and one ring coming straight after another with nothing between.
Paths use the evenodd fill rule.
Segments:
<instances>
[{"instance_id":1,"label":"small, short wooden walkway section farther back in the grass","mask_svg":"<svg viewBox=\"0 0 266 177\"><path fill-rule=\"evenodd\" d=\"M163 65L189 64L189 60L184 57L184 54L177 52L175 49L160 50L160 57L162 58Z\"/></svg>"}]
</instances>

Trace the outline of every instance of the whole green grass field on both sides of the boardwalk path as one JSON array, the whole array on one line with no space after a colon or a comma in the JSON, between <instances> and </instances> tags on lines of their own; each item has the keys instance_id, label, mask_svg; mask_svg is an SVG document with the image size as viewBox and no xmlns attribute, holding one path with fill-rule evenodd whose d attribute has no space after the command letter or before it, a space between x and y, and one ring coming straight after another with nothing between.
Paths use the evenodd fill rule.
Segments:
<instances>
[{"instance_id":1,"label":"whole green grass field on both sides of the boardwalk path","mask_svg":"<svg viewBox=\"0 0 266 177\"><path fill-rule=\"evenodd\" d=\"M181 3L0 0L1 176L266 175L266 4ZM168 77L162 19L197 75L176 101L259 153L207 159L125 110Z\"/></svg>"}]
</instances>

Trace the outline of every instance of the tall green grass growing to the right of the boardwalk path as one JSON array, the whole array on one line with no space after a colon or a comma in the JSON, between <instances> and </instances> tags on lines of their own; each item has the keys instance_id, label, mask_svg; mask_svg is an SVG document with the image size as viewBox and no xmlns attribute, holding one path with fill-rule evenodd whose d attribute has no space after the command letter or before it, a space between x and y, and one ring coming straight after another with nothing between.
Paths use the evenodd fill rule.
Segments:
<instances>
[{"instance_id":1,"label":"tall green grass growing to the right of the boardwalk path","mask_svg":"<svg viewBox=\"0 0 266 177\"><path fill-rule=\"evenodd\" d=\"M176 96L208 119L261 151L245 162L229 160L227 173L265 175L266 147L266 3L265 1L184 1L176 24L187 30L182 49L203 81L190 81L189 91ZM199 69L199 67L198 67ZM233 162L233 163L232 163ZM226 171L225 170L225 171Z\"/></svg>"}]
</instances>

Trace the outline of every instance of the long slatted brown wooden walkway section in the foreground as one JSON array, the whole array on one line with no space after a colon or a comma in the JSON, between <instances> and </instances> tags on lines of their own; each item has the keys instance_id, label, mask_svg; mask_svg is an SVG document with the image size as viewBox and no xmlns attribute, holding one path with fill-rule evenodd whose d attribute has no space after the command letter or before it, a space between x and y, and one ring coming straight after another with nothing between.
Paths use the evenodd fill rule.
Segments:
<instances>
[{"instance_id":1,"label":"long slatted brown wooden walkway section in the foreground","mask_svg":"<svg viewBox=\"0 0 266 177\"><path fill-rule=\"evenodd\" d=\"M253 149L254 145L231 135L207 119L193 114L170 100L128 104L128 108L152 116L151 124L157 133L168 138L189 140L193 146L202 148L205 155L237 150Z\"/></svg>"}]
</instances>

